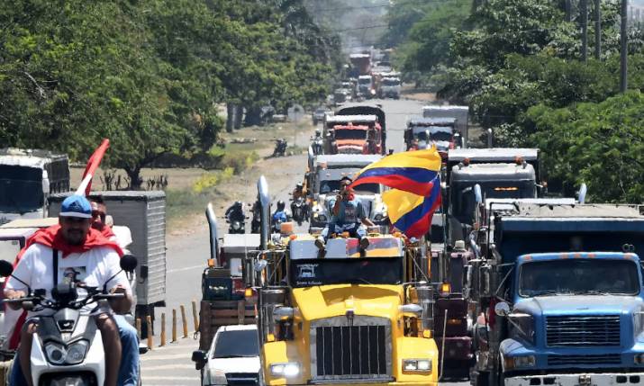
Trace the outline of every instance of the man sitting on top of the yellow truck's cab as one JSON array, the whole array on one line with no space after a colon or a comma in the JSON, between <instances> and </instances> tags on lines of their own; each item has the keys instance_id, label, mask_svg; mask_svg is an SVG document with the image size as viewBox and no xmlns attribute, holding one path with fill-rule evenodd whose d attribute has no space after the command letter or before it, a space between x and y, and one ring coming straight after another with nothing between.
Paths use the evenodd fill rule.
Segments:
<instances>
[{"instance_id":1,"label":"man sitting on top of the yellow truck's cab","mask_svg":"<svg viewBox=\"0 0 644 386\"><path fill-rule=\"evenodd\" d=\"M353 182L348 176L340 179L340 193L329 201L331 208L331 222L322 229L322 234L315 240L315 246L324 251L324 245L331 234L340 235L343 232L349 232L349 237L359 238L360 248L362 251L369 246L367 231L361 224L374 226L371 220L367 219L367 214L362 202L356 198L353 189L349 185Z\"/></svg>"}]
</instances>

